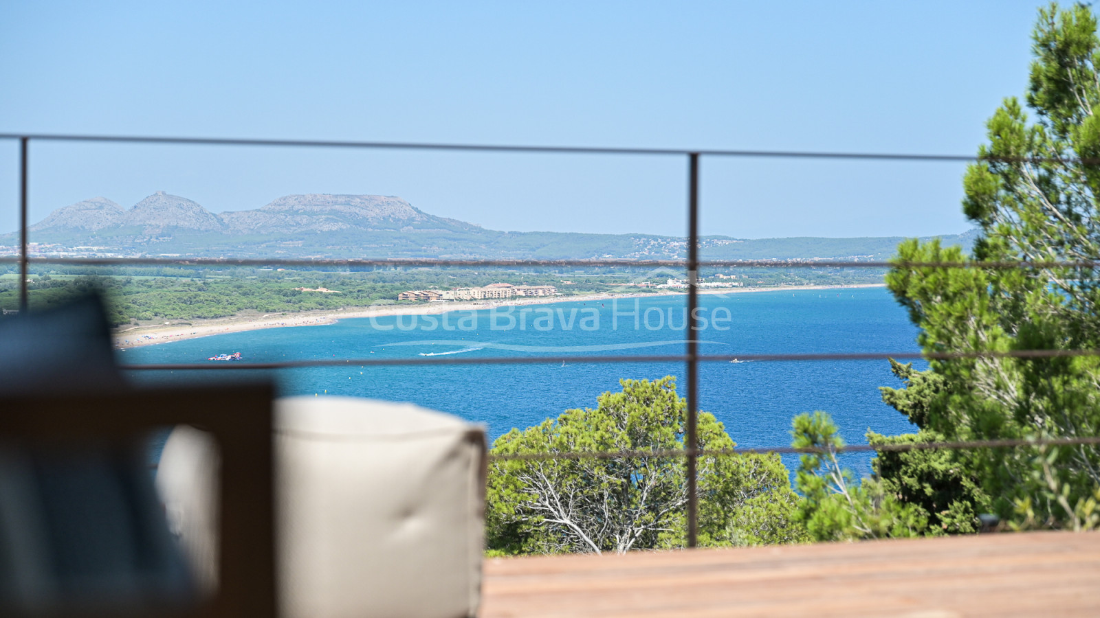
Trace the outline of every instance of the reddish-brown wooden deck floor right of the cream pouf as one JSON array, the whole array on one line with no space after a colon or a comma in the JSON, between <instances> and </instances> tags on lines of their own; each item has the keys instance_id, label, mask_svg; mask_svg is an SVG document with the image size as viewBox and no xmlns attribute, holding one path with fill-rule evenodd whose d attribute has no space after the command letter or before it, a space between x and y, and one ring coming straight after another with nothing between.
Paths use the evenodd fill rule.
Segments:
<instances>
[{"instance_id":1,"label":"reddish-brown wooden deck floor right of the cream pouf","mask_svg":"<svg viewBox=\"0 0 1100 618\"><path fill-rule=\"evenodd\" d=\"M1100 616L1100 533L485 561L482 618Z\"/></svg>"}]
</instances>

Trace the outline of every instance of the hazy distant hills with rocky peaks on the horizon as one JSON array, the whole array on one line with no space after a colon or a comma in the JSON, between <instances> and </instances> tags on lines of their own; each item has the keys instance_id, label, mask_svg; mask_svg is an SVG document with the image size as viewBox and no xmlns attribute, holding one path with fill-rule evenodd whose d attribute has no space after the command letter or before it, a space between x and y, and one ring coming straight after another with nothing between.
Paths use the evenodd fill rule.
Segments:
<instances>
[{"instance_id":1,"label":"hazy distant hills with rocky peaks on the horizon","mask_svg":"<svg viewBox=\"0 0 1100 618\"><path fill-rule=\"evenodd\" d=\"M941 236L969 250L971 233ZM32 242L99 255L209 257L639 258L683 257L686 242L649 234L502 232L428 214L393 196L294 195L213 213L158 191L124 209L92 198L31 227ZM864 260L893 255L900 236L746 240L704 236L706 260ZM16 234L0 235L15 245Z\"/></svg>"}]
</instances>

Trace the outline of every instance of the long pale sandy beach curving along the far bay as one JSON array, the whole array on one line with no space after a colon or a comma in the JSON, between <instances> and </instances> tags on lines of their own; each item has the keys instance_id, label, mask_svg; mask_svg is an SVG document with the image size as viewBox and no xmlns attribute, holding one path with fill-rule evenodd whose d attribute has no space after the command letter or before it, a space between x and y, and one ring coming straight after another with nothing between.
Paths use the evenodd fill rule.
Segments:
<instances>
[{"instance_id":1,"label":"long pale sandy beach curving along the far bay","mask_svg":"<svg viewBox=\"0 0 1100 618\"><path fill-rule=\"evenodd\" d=\"M846 286L810 285L810 286L771 286L752 288L717 288L701 289L698 294L752 294L765 291L787 291L787 290L815 290L815 289L856 289L884 287L886 284L853 284ZM305 311L300 313L267 313L264 316L230 316L228 318L216 318L211 320L191 320L189 324L154 324L147 327L125 327L116 329L112 339L116 350L128 350L144 345L156 345L158 343L170 343L173 341L184 341L198 339L200 336L211 336L216 334L228 334L232 332L245 332L262 329L292 328L292 327L316 327L333 324L339 320L349 318L371 318L383 316L429 316L446 313L448 311L476 311L492 309L494 307L522 307L525 305L550 305L557 302L588 302L594 300L608 300L612 298L650 298L658 296L683 295L682 291L659 291L659 293L630 293L612 294L596 293L569 297L547 297L536 296L527 298L514 298L509 300L485 300L485 301L461 301L461 302L425 302L422 305L385 305L373 307L355 307L350 309L338 309L334 311ZM183 320L177 320L183 321Z\"/></svg>"}]
</instances>

